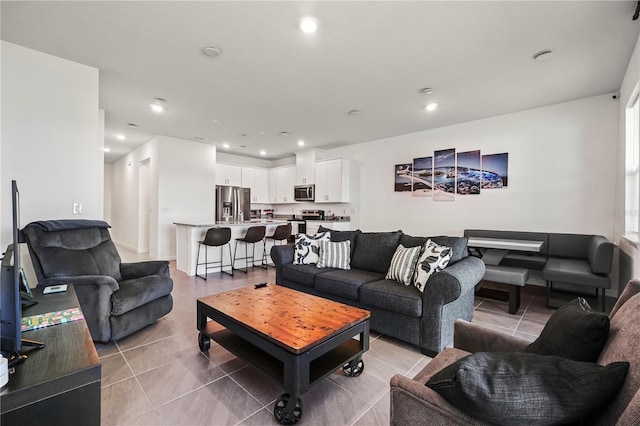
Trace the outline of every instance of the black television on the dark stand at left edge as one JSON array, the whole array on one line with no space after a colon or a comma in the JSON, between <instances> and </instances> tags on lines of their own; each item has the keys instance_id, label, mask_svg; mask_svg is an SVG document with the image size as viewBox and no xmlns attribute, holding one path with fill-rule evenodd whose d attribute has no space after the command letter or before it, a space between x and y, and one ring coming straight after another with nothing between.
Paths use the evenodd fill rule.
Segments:
<instances>
[{"instance_id":1,"label":"black television on the dark stand at left edge","mask_svg":"<svg viewBox=\"0 0 640 426\"><path fill-rule=\"evenodd\" d=\"M22 339L20 320L22 319L22 286L29 292L20 267L20 193L15 180L11 181L11 206L13 216L13 242L2 257L0 270L0 350L9 360L9 366L24 361L23 346L44 347L41 342Z\"/></svg>"}]
</instances>

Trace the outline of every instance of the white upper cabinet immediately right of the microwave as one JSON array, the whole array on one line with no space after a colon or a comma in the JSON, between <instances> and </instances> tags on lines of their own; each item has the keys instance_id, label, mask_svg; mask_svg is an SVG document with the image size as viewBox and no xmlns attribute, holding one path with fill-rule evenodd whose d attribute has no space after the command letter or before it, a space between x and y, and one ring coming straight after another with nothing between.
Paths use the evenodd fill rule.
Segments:
<instances>
[{"instance_id":1,"label":"white upper cabinet immediately right of the microwave","mask_svg":"<svg viewBox=\"0 0 640 426\"><path fill-rule=\"evenodd\" d=\"M336 158L316 163L316 203L348 203L351 165Z\"/></svg>"}]
</instances>

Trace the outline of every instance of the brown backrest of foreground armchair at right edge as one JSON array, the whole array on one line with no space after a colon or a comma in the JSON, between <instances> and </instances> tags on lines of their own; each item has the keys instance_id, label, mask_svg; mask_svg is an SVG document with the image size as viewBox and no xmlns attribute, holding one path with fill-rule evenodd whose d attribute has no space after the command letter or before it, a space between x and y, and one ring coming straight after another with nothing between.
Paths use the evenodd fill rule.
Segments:
<instances>
[{"instance_id":1,"label":"brown backrest of foreground armchair at right edge","mask_svg":"<svg viewBox=\"0 0 640 426\"><path fill-rule=\"evenodd\" d=\"M633 294L633 295L632 295ZM632 296L631 296L632 295ZM632 281L624 289L619 303L612 310L609 339L598 359L598 364L606 365L613 361L628 361L627 380L620 392L598 415L595 424L613 424L623 412L640 412L640 399L634 398L640 389L640 363L638 361L638 342L640 342L640 285ZM631 424L631 423L629 423Z\"/></svg>"}]
</instances>

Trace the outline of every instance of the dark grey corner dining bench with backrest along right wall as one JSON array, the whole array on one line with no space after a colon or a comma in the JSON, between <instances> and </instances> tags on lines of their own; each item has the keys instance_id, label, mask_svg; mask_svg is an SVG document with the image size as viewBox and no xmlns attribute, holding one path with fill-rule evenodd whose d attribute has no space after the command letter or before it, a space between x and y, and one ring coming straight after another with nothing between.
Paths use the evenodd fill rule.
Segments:
<instances>
[{"instance_id":1,"label":"dark grey corner dining bench with backrest along right wall","mask_svg":"<svg viewBox=\"0 0 640 426\"><path fill-rule=\"evenodd\" d=\"M510 251L499 267L538 270L547 285L547 305L554 283L602 290L601 308L605 310L605 289L611 288L614 245L601 235L547 232L467 229L465 237L542 241L538 253Z\"/></svg>"}]
</instances>

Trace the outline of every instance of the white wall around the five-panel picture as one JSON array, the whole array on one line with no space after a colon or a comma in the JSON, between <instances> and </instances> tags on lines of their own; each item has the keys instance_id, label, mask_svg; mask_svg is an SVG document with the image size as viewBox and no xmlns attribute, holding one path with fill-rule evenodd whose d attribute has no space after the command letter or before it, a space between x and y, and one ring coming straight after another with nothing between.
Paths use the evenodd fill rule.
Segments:
<instances>
[{"instance_id":1,"label":"white wall around the five-panel picture","mask_svg":"<svg viewBox=\"0 0 640 426\"><path fill-rule=\"evenodd\" d=\"M614 238L618 103L610 95L336 148L359 168L357 226L414 235L467 228L602 234ZM509 153L509 187L454 202L393 191L397 163L434 150Z\"/></svg>"}]
</instances>

